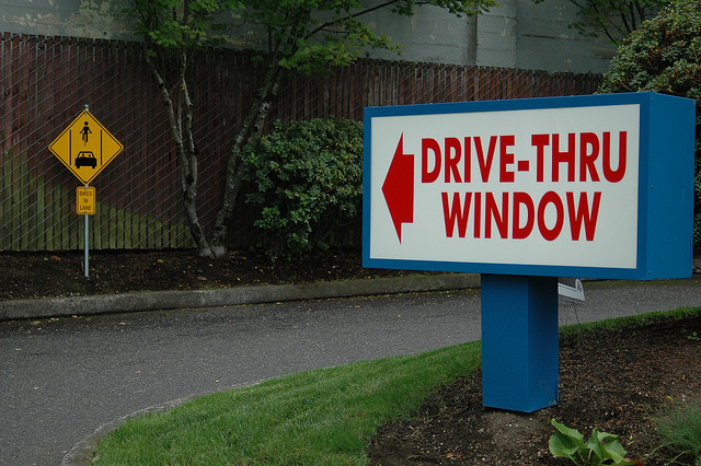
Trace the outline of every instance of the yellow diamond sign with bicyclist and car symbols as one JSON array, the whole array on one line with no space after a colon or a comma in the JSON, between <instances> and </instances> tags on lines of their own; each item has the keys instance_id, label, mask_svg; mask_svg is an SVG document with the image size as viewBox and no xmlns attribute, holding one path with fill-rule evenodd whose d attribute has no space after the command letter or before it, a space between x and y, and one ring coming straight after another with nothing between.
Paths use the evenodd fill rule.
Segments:
<instances>
[{"instance_id":1,"label":"yellow diamond sign with bicyclist and car symbols","mask_svg":"<svg viewBox=\"0 0 701 466\"><path fill-rule=\"evenodd\" d=\"M90 112L83 110L48 149L78 179L89 185L124 145Z\"/></svg>"}]
</instances>

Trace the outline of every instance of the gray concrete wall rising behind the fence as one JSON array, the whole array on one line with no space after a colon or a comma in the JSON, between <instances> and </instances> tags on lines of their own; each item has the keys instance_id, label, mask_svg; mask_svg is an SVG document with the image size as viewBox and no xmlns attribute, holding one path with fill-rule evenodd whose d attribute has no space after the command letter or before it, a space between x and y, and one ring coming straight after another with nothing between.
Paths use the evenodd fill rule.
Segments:
<instances>
[{"instance_id":1,"label":"gray concrete wall rising behind the fence","mask_svg":"<svg viewBox=\"0 0 701 466\"><path fill-rule=\"evenodd\" d=\"M0 31L23 34L135 39L117 0L0 0ZM583 37L567 25L576 18L570 0L499 0L476 18L456 18L436 7L416 8L411 18L378 12L370 24L404 46L400 56L371 51L371 58L451 65L604 72L614 48ZM260 46L248 31L241 47Z\"/></svg>"}]
</instances>

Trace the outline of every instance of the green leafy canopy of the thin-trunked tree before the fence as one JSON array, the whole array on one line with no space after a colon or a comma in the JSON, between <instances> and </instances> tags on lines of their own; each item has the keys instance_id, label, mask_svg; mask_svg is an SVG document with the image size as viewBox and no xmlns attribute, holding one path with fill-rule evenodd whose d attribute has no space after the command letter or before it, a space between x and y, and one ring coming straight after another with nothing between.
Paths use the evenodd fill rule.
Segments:
<instances>
[{"instance_id":1,"label":"green leafy canopy of the thin-trunked tree before the fence","mask_svg":"<svg viewBox=\"0 0 701 466\"><path fill-rule=\"evenodd\" d=\"M223 42L241 44L219 18L240 18L246 35L264 33L268 59L287 69L327 74L330 66L348 65L372 48L401 51L399 44L361 19L376 10L413 15L433 4L456 15L474 15L494 0L390 0L366 5L360 0L131 0L123 11L134 31L165 51ZM222 14L222 13L229 13ZM156 55L156 50L149 51Z\"/></svg>"}]
</instances>

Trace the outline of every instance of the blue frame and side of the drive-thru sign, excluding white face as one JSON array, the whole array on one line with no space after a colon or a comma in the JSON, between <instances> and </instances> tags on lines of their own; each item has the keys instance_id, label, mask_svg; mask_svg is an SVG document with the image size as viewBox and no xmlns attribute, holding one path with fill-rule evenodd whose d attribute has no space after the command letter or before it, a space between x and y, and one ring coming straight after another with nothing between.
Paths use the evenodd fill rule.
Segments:
<instances>
[{"instance_id":1,"label":"blue frame and side of the drive-thru sign, excluding white face","mask_svg":"<svg viewBox=\"0 0 701 466\"><path fill-rule=\"evenodd\" d=\"M635 268L452 263L386 259L370 256L372 119L421 116L640 105L637 257ZM401 105L365 109L363 266L493 275L653 280L691 275L693 222L694 101L657 93L624 93L567 97L449 104Z\"/></svg>"}]
</instances>

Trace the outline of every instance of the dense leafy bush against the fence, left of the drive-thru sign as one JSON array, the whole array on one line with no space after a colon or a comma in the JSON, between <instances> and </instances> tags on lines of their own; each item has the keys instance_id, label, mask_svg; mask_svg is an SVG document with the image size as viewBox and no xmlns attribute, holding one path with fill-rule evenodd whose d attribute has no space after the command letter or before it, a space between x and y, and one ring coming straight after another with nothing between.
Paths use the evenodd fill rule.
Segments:
<instances>
[{"instance_id":1,"label":"dense leafy bush against the fence, left of the drive-thru sign","mask_svg":"<svg viewBox=\"0 0 701 466\"><path fill-rule=\"evenodd\" d=\"M275 123L257 148L242 154L257 190L255 225L269 233L273 257L292 258L329 246L334 229L359 223L363 124L312 119Z\"/></svg>"}]
</instances>

